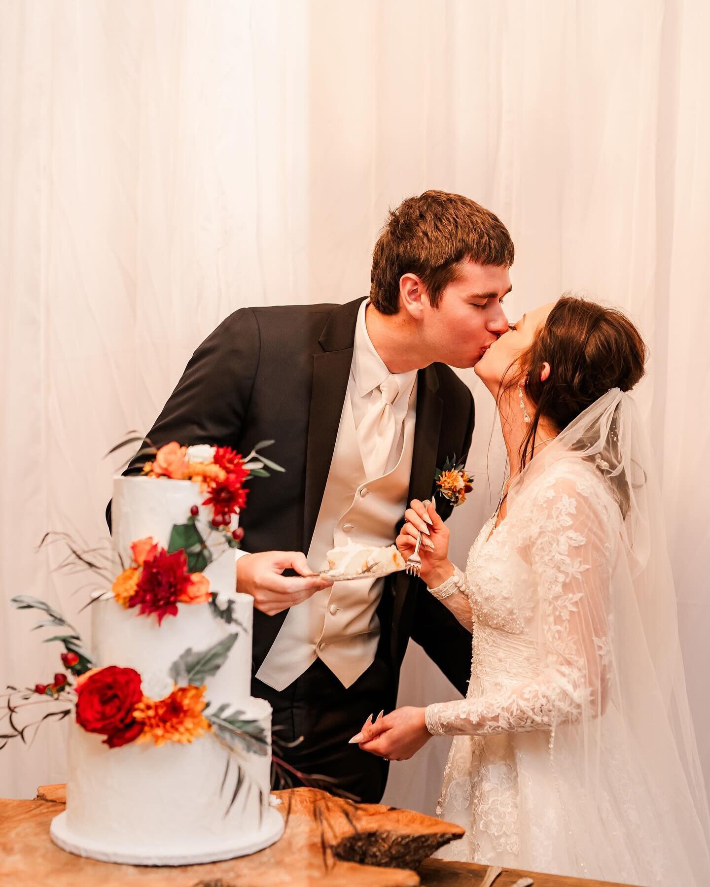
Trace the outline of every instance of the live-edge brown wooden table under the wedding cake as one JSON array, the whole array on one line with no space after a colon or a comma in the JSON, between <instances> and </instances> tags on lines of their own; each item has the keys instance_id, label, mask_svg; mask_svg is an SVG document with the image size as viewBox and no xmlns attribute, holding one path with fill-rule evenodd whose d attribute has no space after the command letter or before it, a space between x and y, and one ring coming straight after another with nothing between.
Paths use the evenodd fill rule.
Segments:
<instances>
[{"instance_id":1,"label":"live-edge brown wooden table under the wedding cake","mask_svg":"<svg viewBox=\"0 0 710 887\"><path fill-rule=\"evenodd\" d=\"M312 794L309 795L309 792ZM328 887L477 887L486 867L473 863L427 859L416 872L405 868L374 867L337 859L333 847L342 838L343 828L335 821L331 833L323 833L313 815L314 798L321 803L325 792L312 789L277 792L290 816L284 836L272 847L248 857L201 866L141 867L120 866L84 860L59 850L51 843L51 819L64 810L65 786L43 786L32 801L0 800L0 883L8 887L268 887L271 884L327 884ZM290 796L290 798L289 798ZM337 805L336 799L332 799ZM383 834L402 836L415 832L426 837L448 828L432 817L411 811L398 811L383 805L359 805L359 822L375 823ZM390 820L388 820L388 817ZM358 817L356 817L358 819ZM344 824L344 823L343 823ZM351 826L346 826L352 835ZM462 829L450 827L452 833ZM339 835L335 833L339 831ZM423 844L422 844L423 845ZM421 858L421 857L420 857ZM494 887L511 887L523 875L533 877L534 887L603 887L599 881L585 881L554 875L541 875L504 869ZM623 885L604 884L604 887Z\"/></svg>"}]
</instances>

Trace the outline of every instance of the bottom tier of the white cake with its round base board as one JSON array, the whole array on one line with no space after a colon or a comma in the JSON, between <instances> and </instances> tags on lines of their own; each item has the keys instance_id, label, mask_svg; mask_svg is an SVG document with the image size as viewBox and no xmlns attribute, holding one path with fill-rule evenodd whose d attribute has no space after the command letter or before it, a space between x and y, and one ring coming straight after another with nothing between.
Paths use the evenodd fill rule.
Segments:
<instances>
[{"instance_id":1,"label":"bottom tier of the white cake with its round base board","mask_svg":"<svg viewBox=\"0 0 710 887\"><path fill-rule=\"evenodd\" d=\"M143 865L225 860L272 844L283 819L269 806L271 706L251 698L241 708L262 727L267 754L230 753L214 734L185 745L109 749L102 736L72 724L67 810L52 821L54 842Z\"/></svg>"}]
</instances>

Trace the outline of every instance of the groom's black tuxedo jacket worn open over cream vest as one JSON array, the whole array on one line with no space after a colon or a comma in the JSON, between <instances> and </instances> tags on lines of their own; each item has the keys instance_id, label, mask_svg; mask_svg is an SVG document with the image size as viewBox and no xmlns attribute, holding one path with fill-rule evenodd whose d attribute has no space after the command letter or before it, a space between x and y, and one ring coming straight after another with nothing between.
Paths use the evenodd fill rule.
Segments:
<instances>
[{"instance_id":1,"label":"groom's black tuxedo jacket worn open over cream vest","mask_svg":"<svg viewBox=\"0 0 710 887\"><path fill-rule=\"evenodd\" d=\"M308 552L335 448L361 302L235 311L194 352L147 435L158 447L170 441L212 443L242 454L260 441L276 442L266 454L286 474L250 482L240 517L249 552ZM473 425L473 398L454 372L443 364L420 370L409 500L430 498L435 469L447 457L465 459ZM134 460L128 472L138 464ZM437 506L446 518L451 509L441 502L438 498ZM255 671L287 612L254 611ZM388 577L378 612L381 649L384 643L395 675L411 636L465 694L470 633L420 579L403 572Z\"/></svg>"}]
</instances>

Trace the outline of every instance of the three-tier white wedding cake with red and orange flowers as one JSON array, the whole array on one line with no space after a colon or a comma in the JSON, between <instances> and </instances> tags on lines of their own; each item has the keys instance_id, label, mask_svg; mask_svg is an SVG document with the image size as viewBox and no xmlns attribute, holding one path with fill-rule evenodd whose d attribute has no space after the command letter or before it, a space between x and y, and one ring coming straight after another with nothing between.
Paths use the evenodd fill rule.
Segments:
<instances>
[{"instance_id":1,"label":"three-tier white wedding cake with red and orange flowers","mask_svg":"<svg viewBox=\"0 0 710 887\"><path fill-rule=\"evenodd\" d=\"M76 679L67 809L51 836L98 860L185 865L260 850L283 817L269 803L271 706L249 693L238 499L216 491L236 463L209 447L179 448L179 470L162 457L114 479L117 576L91 603L98 667Z\"/></svg>"}]
</instances>

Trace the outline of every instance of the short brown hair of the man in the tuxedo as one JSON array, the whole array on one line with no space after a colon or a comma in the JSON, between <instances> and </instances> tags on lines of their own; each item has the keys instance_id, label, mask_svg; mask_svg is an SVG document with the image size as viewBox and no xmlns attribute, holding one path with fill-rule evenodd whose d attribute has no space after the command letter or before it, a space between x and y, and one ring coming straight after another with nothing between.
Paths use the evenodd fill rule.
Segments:
<instances>
[{"instance_id":1,"label":"short brown hair of the man in the tuxedo","mask_svg":"<svg viewBox=\"0 0 710 887\"><path fill-rule=\"evenodd\" d=\"M383 314L399 310L399 279L416 274L438 308L464 259L509 267L515 247L498 216L461 194L425 191L390 209L372 255L370 302Z\"/></svg>"}]
</instances>

